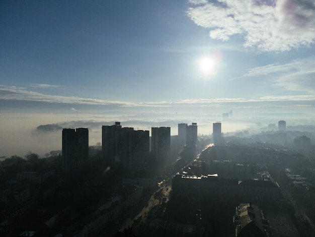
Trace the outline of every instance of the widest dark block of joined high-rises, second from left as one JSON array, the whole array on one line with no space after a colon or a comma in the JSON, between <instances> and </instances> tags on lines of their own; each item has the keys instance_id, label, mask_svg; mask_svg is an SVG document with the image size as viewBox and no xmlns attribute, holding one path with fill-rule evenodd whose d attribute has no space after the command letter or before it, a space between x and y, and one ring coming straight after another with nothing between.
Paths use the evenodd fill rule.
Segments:
<instances>
[{"instance_id":1,"label":"widest dark block of joined high-rises, second from left","mask_svg":"<svg viewBox=\"0 0 315 237\"><path fill-rule=\"evenodd\" d=\"M134 176L149 156L149 131L122 128L120 122L102 126L102 154L108 162L121 162L128 176Z\"/></svg>"}]
</instances>

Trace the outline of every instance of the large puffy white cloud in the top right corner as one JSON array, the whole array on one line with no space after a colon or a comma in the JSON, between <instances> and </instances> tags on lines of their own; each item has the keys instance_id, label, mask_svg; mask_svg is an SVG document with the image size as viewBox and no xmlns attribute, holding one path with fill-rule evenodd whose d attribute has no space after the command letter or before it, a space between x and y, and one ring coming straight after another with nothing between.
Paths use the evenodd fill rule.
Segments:
<instances>
[{"instance_id":1,"label":"large puffy white cloud in the top right corner","mask_svg":"<svg viewBox=\"0 0 315 237\"><path fill-rule=\"evenodd\" d=\"M287 51L315 42L313 0L190 1L187 14L210 29L210 37L229 40L242 34L244 47L259 51Z\"/></svg>"}]
</instances>

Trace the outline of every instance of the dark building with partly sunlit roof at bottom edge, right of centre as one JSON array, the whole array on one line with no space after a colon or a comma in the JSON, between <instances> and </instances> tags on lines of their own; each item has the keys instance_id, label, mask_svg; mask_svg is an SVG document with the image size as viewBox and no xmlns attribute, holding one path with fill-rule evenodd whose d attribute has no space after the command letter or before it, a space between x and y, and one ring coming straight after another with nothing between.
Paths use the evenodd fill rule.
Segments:
<instances>
[{"instance_id":1,"label":"dark building with partly sunlit roof at bottom edge, right of centre","mask_svg":"<svg viewBox=\"0 0 315 237\"><path fill-rule=\"evenodd\" d=\"M264 216L263 212L252 203L242 203L235 211L233 216L235 228L235 237L241 236L270 236L269 221Z\"/></svg>"}]
</instances>

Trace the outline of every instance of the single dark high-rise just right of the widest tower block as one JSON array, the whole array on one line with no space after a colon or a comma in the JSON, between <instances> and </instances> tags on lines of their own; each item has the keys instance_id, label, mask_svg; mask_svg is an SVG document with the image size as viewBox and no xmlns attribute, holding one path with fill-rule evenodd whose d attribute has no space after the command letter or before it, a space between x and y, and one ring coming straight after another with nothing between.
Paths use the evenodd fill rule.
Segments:
<instances>
[{"instance_id":1,"label":"single dark high-rise just right of the widest tower block","mask_svg":"<svg viewBox=\"0 0 315 237\"><path fill-rule=\"evenodd\" d=\"M151 128L151 154L153 159L165 161L171 153L171 128Z\"/></svg>"}]
</instances>

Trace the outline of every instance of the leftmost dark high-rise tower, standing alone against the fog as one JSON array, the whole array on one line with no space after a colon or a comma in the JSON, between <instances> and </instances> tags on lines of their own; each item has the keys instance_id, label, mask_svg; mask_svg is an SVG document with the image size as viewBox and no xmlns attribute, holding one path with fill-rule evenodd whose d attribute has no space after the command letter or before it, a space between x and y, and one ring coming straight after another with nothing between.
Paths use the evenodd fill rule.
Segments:
<instances>
[{"instance_id":1,"label":"leftmost dark high-rise tower, standing alone against the fog","mask_svg":"<svg viewBox=\"0 0 315 237\"><path fill-rule=\"evenodd\" d=\"M69 170L89 158L89 130L86 128L62 130L63 170Z\"/></svg>"}]
</instances>

